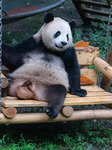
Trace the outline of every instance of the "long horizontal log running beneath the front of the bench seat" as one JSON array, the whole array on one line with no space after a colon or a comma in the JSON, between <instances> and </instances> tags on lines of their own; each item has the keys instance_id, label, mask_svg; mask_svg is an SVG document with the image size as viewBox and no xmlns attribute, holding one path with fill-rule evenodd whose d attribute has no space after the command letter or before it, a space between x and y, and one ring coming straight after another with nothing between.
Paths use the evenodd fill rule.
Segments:
<instances>
[{"instance_id":1,"label":"long horizontal log running beneath the front of the bench seat","mask_svg":"<svg viewBox=\"0 0 112 150\"><path fill-rule=\"evenodd\" d=\"M17 114L12 119L6 118L2 113L0 114L1 124L66 122L89 119L112 119L112 110L78 110L74 111L70 117L64 117L60 113L58 117L53 120L50 119L50 117L46 113Z\"/></svg>"}]
</instances>

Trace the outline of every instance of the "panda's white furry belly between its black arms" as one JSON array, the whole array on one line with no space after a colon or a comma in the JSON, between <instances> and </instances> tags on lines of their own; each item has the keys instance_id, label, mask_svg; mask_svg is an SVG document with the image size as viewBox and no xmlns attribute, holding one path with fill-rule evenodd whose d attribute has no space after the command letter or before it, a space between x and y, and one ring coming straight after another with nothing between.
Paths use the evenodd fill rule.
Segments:
<instances>
[{"instance_id":1,"label":"panda's white furry belly between its black arms","mask_svg":"<svg viewBox=\"0 0 112 150\"><path fill-rule=\"evenodd\" d=\"M28 79L39 85L61 84L69 88L68 76L62 60L51 54L28 54L25 64L12 73L14 78Z\"/></svg>"}]
</instances>

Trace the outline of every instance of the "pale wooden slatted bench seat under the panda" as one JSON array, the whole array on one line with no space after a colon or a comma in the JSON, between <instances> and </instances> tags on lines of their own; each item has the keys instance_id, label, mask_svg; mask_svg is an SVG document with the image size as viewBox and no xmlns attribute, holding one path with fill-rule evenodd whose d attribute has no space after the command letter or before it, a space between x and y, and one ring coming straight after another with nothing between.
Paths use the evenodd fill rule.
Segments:
<instances>
[{"instance_id":1,"label":"pale wooden slatted bench seat under the panda","mask_svg":"<svg viewBox=\"0 0 112 150\"><path fill-rule=\"evenodd\" d=\"M91 105L91 104L112 104L112 93L104 92L101 88L86 87L88 95L86 97L78 97L68 94L64 106L67 105ZM92 90L92 92L90 92ZM35 100L9 100L7 97L2 98L2 106L4 107L41 107L47 106L46 102Z\"/></svg>"}]
</instances>

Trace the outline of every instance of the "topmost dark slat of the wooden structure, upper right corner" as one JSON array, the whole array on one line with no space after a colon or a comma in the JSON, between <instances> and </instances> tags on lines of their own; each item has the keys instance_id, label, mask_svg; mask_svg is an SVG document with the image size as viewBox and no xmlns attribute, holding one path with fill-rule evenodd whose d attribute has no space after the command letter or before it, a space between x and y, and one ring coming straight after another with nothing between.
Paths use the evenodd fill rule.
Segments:
<instances>
[{"instance_id":1,"label":"topmost dark slat of the wooden structure, upper right corner","mask_svg":"<svg viewBox=\"0 0 112 150\"><path fill-rule=\"evenodd\" d=\"M82 4L92 5L92 6L97 6L97 7L110 8L108 4L102 3L102 2L94 2L94 1L81 0L81 3Z\"/></svg>"}]
</instances>

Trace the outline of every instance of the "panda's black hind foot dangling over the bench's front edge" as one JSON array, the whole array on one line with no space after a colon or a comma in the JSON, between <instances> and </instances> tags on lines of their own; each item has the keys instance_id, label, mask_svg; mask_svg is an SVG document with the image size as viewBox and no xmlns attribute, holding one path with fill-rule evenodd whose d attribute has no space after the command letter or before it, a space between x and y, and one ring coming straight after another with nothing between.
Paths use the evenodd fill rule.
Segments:
<instances>
[{"instance_id":1,"label":"panda's black hind foot dangling over the bench's front edge","mask_svg":"<svg viewBox=\"0 0 112 150\"><path fill-rule=\"evenodd\" d=\"M58 116L58 112L52 107L46 107L45 112L49 115L51 119L55 119Z\"/></svg>"}]
</instances>

